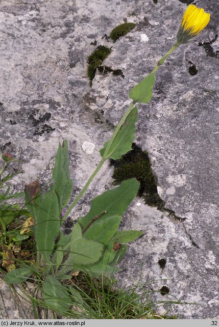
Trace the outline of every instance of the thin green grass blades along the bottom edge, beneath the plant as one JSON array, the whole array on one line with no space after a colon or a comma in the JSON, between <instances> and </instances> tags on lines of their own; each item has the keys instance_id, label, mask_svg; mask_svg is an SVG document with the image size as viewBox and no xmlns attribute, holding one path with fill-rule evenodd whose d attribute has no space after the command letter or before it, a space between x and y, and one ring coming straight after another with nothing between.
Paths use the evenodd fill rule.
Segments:
<instances>
[{"instance_id":1,"label":"thin green grass blades along the bottom edge, beneath the plant","mask_svg":"<svg viewBox=\"0 0 219 327\"><path fill-rule=\"evenodd\" d=\"M28 283L30 284L30 283ZM71 303L69 309L64 306L54 308L42 299L42 289L39 280L35 280L33 286L25 288L23 283L20 287L23 292L11 287L15 292L17 305L20 301L28 303L28 315L35 319L69 318L69 319L177 319L176 316L169 316L168 310L158 314L161 305L169 307L171 304L180 304L178 300L157 301L150 300L151 292L144 290L137 284L127 289L119 289L115 280L101 278L99 280L80 273L65 284ZM32 294L30 290L32 289ZM75 296L75 291L77 296ZM22 295L23 293L23 295Z\"/></svg>"}]
</instances>

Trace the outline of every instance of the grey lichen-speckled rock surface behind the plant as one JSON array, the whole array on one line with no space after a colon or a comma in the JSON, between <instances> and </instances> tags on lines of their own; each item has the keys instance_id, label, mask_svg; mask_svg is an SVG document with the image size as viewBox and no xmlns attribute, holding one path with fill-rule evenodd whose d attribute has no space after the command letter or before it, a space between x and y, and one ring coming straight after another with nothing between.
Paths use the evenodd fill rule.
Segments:
<instances>
[{"instance_id":1,"label":"grey lichen-speckled rock surface behind the plant","mask_svg":"<svg viewBox=\"0 0 219 327\"><path fill-rule=\"evenodd\" d=\"M49 181L64 138L69 141L73 197L83 187L100 160L99 149L130 103L130 88L174 44L187 4L155 2L0 2L0 145L22 160L13 168L24 171L13 180L14 189L23 190L36 178L42 185ZM218 318L219 305L219 4L196 4L211 12L210 24L158 70L152 101L138 106L136 129L136 143L148 151L161 198L186 220L170 220L135 199L121 227L146 234L129 246L118 275L121 284L132 284L142 269L143 284L150 281L155 290L167 286L177 299L198 303L171 309L179 318L192 319ZM125 20L137 26L112 43L107 36ZM122 69L124 79L97 73L90 88L86 59L95 41L112 47L104 65ZM194 65L197 74L192 76ZM112 169L104 165L72 219L112 187ZM162 258L164 269L158 264ZM172 299L159 292L154 296Z\"/></svg>"}]
</instances>

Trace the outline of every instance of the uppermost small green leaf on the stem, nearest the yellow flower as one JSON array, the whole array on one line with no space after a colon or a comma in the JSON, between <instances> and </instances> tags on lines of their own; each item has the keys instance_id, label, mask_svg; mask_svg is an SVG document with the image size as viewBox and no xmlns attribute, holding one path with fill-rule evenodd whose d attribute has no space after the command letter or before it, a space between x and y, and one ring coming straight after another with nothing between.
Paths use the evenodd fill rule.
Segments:
<instances>
[{"instance_id":1,"label":"uppermost small green leaf on the stem, nearest the yellow flower","mask_svg":"<svg viewBox=\"0 0 219 327\"><path fill-rule=\"evenodd\" d=\"M155 73L148 75L142 82L133 87L129 93L129 98L134 103L147 103L152 98L152 89L155 82Z\"/></svg>"}]
</instances>

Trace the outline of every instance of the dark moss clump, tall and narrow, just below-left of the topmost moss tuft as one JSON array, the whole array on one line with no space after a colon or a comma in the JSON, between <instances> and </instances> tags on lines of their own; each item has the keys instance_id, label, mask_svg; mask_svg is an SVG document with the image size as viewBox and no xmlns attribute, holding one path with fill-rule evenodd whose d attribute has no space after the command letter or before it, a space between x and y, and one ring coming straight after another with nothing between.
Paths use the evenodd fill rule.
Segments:
<instances>
[{"instance_id":1,"label":"dark moss clump, tall and narrow, just below-left of the topmost moss tuft","mask_svg":"<svg viewBox=\"0 0 219 327\"><path fill-rule=\"evenodd\" d=\"M90 54L87 58L88 68L87 68L87 75L90 80L90 85L92 86L92 81L95 77L97 67L102 64L103 60L111 54L112 49L107 48L105 46L98 46L95 51Z\"/></svg>"}]
</instances>

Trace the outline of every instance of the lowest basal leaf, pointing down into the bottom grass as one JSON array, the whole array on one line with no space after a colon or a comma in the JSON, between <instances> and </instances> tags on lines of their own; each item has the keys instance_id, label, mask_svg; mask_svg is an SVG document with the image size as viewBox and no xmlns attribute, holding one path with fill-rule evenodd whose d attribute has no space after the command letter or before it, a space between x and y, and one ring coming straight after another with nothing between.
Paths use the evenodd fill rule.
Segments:
<instances>
[{"instance_id":1,"label":"lowest basal leaf, pointing down into the bottom grass","mask_svg":"<svg viewBox=\"0 0 219 327\"><path fill-rule=\"evenodd\" d=\"M52 309L63 310L68 309L71 301L67 290L54 277L48 275L43 286L43 298Z\"/></svg>"}]
</instances>

